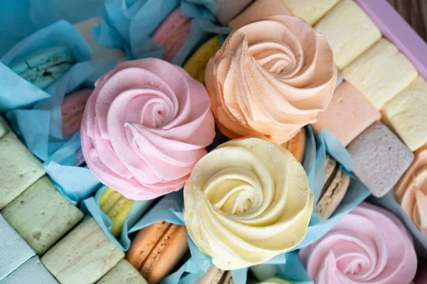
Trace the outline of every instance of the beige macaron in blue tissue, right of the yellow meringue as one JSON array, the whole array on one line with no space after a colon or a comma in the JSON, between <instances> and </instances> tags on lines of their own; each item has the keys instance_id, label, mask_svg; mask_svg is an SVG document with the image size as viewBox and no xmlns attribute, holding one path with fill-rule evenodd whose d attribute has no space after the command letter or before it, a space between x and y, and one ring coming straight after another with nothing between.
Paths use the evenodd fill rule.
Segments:
<instances>
[{"instance_id":1,"label":"beige macaron in blue tissue, right of the yellow meringue","mask_svg":"<svg viewBox=\"0 0 427 284\"><path fill-rule=\"evenodd\" d=\"M332 216L350 185L350 177L342 172L336 160L326 155L325 185L320 193L315 212L325 221Z\"/></svg>"}]
</instances>

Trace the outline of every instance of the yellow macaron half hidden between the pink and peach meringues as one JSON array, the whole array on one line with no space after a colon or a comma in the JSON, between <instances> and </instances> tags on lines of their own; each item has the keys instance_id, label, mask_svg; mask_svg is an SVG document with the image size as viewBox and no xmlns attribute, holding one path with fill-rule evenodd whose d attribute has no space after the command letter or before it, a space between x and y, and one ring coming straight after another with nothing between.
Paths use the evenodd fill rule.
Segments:
<instances>
[{"instance_id":1,"label":"yellow macaron half hidden between the pink and peach meringues","mask_svg":"<svg viewBox=\"0 0 427 284\"><path fill-rule=\"evenodd\" d=\"M204 83L206 65L208 65L209 59L214 56L218 49L219 38L218 36L214 36L201 45L200 48L191 55L189 60L184 64L184 70L186 70L186 72L188 72L194 79Z\"/></svg>"}]
</instances>

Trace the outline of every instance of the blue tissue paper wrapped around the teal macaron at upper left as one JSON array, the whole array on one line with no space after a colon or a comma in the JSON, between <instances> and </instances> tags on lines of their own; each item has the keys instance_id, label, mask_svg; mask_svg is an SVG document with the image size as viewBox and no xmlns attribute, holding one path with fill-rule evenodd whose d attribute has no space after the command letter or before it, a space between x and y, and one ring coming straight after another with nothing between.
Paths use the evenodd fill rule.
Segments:
<instances>
[{"instance_id":1,"label":"blue tissue paper wrapped around the teal macaron at upper left","mask_svg":"<svg viewBox=\"0 0 427 284\"><path fill-rule=\"evenodd\" d=\"M41 29L17 43L0 59L0 111L31 107L34 103L48 99L55 92L55 87L45 90L33 86L16 75L7 65L43 48L61 45L69 48L76 62L90 60L90 47L83 37L67 21L58 21ZM22 94L26 94L23 96Z\"/></svg>"}]
</instances>

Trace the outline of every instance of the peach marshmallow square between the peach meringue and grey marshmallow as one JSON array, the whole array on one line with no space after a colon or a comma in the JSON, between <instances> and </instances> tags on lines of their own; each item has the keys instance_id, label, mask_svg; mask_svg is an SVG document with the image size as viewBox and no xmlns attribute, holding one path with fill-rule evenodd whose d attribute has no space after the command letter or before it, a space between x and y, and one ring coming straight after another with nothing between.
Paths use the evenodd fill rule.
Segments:
<instances>
[{"instance_id":1,"label":"peach marshmallow square between the peach meringue and grey marshmallow","mask_svg":"<svg viewBox=\"0 0 427 284\"><path fill-rule=\"evenodd\" d=\"M379 110L352 84L344 82L335 90L330 105L326 111L320 112L313 126L317 131L332 131L347 146L379 119Z\"/></svg>"}]
</instances>

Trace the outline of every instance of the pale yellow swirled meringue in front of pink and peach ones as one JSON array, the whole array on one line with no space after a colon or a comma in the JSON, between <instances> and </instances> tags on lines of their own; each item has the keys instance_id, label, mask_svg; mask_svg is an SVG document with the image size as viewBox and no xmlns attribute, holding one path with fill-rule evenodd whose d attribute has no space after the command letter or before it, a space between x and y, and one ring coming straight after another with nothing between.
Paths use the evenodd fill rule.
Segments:
<instances>
[{"instance_id":1,"label":"pale yellow swirled meringue in front of pink and peach ones","mask_svg":"<svg viewBox=\"0 0 427 284\"><path fill-rule=\"evenodd\" d=\"M201 158L184 186L184 220L214 265L263 263L302 241L313 197L302 165L262 138L221 144Z\"/></svg>"}]
</instances>

